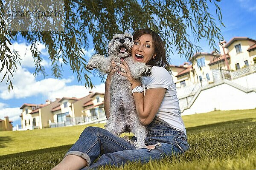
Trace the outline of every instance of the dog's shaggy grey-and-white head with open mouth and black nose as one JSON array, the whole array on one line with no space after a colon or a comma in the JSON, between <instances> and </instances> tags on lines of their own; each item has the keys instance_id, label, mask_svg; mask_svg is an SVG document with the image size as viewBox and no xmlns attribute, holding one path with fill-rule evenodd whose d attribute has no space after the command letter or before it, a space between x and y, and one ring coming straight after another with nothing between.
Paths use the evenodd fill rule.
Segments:
<instances>
[{"instance_id":1,"label":"dog's shaggy grey-and-white head with open mouth and black nose","mask_svg":"<svg viewBox=\"0 0 256 170\"><path fill-rule=\"evenodd\" d=\"M108 44L108 54L115 54L122 58L129 57L133 45L134 41L132 40L131 34L114 34Z\"/></svg>"}]
</instances>

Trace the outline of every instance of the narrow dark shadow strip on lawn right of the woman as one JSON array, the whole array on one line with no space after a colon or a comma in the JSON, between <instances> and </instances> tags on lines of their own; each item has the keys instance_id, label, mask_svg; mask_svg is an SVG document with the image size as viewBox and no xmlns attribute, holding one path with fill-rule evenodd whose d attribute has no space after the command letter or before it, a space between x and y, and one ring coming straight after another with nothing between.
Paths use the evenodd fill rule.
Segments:
<instances>
[{"instance_id":1,"label":"narrow dark shadow strip on lawn right of the woman","mask_svg":"<svg viewBox=\"0 0 256 170\"><path fill-rule=\"evenodd\" d=\"M188 128L186 128L186 130L187 131L190 131L190 130L201 130L201 129L215 128L217 126L222 126L222 125L249 123L249 122L252 122L252 121L253 121L253 118L238 119L238 120L227 121L227 122L218 122L218 123L213 123L213 124L208 124L208 125L188 127Z\"/></svg>"}]
</instances>

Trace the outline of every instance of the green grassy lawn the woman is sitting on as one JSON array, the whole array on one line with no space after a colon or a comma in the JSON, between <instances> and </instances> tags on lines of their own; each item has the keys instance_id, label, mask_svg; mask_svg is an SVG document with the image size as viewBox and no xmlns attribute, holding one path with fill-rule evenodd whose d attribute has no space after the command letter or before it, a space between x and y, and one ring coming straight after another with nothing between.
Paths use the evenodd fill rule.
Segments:
<instances>
[{"instance_id":1,"label":"green grassy lawn the woman is sitting on","mask_svg":"<svg viewBox=\"0 0 256 170\"><path fill-rule=\"evenodd\" d=\"M256 109L214 111L183 116L183 120L190 150L148 164L128 163L123 169L256 169ZM85 127L0 132L0 170L50 169Z\"/></svg>"}]
</instances>

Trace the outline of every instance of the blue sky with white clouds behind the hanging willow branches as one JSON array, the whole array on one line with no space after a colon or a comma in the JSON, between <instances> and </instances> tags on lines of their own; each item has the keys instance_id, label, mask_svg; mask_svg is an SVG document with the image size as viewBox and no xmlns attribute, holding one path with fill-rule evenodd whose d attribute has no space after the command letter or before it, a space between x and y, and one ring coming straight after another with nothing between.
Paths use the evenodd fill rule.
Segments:
<instances>
[{"instance_id":1,"label":"blue sky with white clouds behind the hanging willow branches","mask_svg":"<svg viewBox=\"0 0 256 170\"><path fill-rule=\"evenodd\" d=\"M223 23L226 28L221 27L221 33L226 41L232 37L250 37L256 40L256 3L255 0L223 0L219 3L222 10ZM216 44L218 40L216 40ZM198 45L204 52L211 52L206 41L202 40ZM22 66L18 67L18 71L14 74L12 80L14 91L8 93L5 82L0 83L0 119L9 116L14 121L13 125L20 125L19 115L21 113L20 106L23 103L45 103L46 99L54 100L63 96L81 97L88 94L82 83L77 82L76 75L72 74L68 66L64 67L62 79L55 79L49 76L33 77L35 65L33 63L32 54L29 52L29 45L22 39L18 39L13 43L11 48L20 52ZM43 65L46 70L50 70L50 62L47 61L48 54L43 44L38 45L44 57ZM93 44L90 43L89 49L85 50L85 56L90 57L93 54ZM26 54L26 55L25 55ZM178 55L171 55L172 65L181 65L186 60ZM60 61L61 62L61 61ZM3 77L3 72L0 73ZM104 84L97 77L90 75L96 88L93 91L104 92Z\"/></svg>"}]
</instances>

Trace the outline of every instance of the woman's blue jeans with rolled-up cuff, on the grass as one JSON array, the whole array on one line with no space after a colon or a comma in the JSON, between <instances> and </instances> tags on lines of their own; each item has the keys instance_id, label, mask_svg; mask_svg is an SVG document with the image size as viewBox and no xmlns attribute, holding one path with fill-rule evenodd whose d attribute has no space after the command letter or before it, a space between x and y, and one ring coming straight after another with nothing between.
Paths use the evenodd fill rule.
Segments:
<instances>
[{"instance_id":1,"label":"woman's blue jeans with rolled-up cuff, on the grass","mask_svg":"<svg viewBox=\"0 0 256 170\"><path fill-rule=\"evenodd\" d=\"M154 119L148 126L146 145L157 144L154 150L136 149L134 144L100 127L87 127L79 139L68 150L67 155L77 155L86 159L88 166L82 170L97 169L107 164L120 166L127 161L144 163L150 159L161 159L165 156L183 153L189 149L183 132L170 125ZM133 137L132 139L136 139ZM131 140L132 140L131 139ZM159 144L160 143L160 144ZM97 162L93 162L101 156Z\"/></svg>"}]
</instances>

